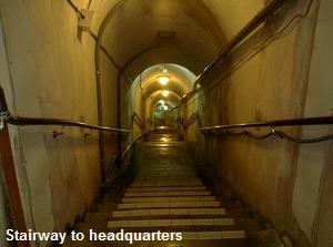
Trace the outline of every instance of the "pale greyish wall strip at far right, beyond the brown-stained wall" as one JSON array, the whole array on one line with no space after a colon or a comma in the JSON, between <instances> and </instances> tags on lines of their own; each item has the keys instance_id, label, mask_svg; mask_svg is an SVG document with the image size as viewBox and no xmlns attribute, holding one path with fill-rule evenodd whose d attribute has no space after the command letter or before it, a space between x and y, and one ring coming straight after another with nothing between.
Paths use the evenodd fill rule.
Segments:
<instances>
[{"instance_id":1,"label":"pale greyish wall strip at far right, beyond the brown-stained wall","mask_svg":"<svg viewBox=\"0 0 333 247\"><path fill-rule=\"evenodd\" d=\"M305 101L304 116L333 114L333 1L322 0L315 31L312 63ZM304 127L303 136L321 136L332 134L332 126ZM329 234L333 227L321 227L317 236L319 215L327 214L327 207L320 210L321 202L332 199L330 194L323 193L324 183L332 183L329 176L330 161L333 158L331 142L302 145L297 161L295 188L293 194L293 214L297 224L305 231L307 238L317 246L332 245ZM327 198L326 198L327 197ZM322 222L323 218L321 219ZM324 231L325 234L321 234ZM330 244L329 244L330 243Z\"/></svg>"}]
</instances>

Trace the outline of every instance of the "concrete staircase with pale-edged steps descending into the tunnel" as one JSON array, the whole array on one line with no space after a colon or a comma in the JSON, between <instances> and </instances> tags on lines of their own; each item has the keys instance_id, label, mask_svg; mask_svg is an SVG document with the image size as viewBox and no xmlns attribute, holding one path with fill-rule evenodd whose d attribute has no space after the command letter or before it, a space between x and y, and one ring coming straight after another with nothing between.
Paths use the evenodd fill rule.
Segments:
<instances>
[{"instance_id":1,"label":"concrete staircase with pale-edged steps descending into the tunnel","mask_svg":"<svg viewBox=\"0 0 333 247\"><path fill-rule=\"evenodd\" d=\"M153 134L138 144L133 179L114 185L75 225L85 235L83 241L68 239L64 246L259 246L249 236L263 229L261 222L238 198L214 195L198 178L191 158L174 135ZM132 236L141 240L112 240L112 235L109 240L88 239L99 233L105 233L101 238L141 233Z\"/></svg>"}]
</instances>

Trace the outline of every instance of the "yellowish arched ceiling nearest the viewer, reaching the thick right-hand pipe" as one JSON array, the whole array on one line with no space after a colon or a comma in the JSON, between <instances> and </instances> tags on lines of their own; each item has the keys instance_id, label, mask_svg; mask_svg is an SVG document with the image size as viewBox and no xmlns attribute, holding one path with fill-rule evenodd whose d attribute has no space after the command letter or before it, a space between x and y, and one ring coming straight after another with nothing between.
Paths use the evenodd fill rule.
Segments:
<instances>
[{"instance_id":1,"label":"yellowish arched ceiling nearest the viewer, reaching the thick right-hand pipe","mask_svg":"<svg viewBox=\"0 0 333 247\"><path fill-rule=\"evenodd\" d=\"M89 1L81 0L81 6ZM135 78L144 68L163 62L199 74L266 0L92 0L93 30L118 2L123 4L111 18L102 43Z\"/></svg>"}]
</instances>

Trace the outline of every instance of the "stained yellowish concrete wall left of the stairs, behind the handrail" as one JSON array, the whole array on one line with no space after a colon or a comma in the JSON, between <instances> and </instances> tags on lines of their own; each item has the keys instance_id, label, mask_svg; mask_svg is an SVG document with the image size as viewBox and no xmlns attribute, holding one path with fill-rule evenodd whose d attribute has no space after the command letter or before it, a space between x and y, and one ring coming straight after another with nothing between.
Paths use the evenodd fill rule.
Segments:
<instances>
[{"instance_id":1,"label":"stained yellowish concrete wall left of the stairs, behind the handrail","mask_svg":"<svg viewBox=\"0 0 333 247\"><path fill-rule=\"evenodd\" d=\"M53 0L0 3L8 55L1 85L10 111L97 124L95 42L78 30L73 9ZM110 112L104 112L104 123L113 125L117 92L108 83L115 71L105 60L103 55L102 102ZM61 127L10 127L28 227L34 230L62 230L72 224L100 184L97 133L65 128L53 138L53 131ZM84 133L91 135L84 138Z\"/></svg>"}]
</instances>

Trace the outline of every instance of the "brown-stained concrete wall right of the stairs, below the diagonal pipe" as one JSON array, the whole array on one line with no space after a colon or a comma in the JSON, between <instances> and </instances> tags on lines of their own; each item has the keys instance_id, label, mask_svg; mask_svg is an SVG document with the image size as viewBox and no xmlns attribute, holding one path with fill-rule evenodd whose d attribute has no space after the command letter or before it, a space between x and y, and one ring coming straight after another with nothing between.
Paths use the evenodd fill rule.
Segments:
<instances>
[{"instance_id":1,"label":"brown-stained concrete wall right of the stairs, below the diagonal pipe","mask_svg":"<svg viewBox=\"0 0 333 247\"><path fill-rule=\"evenodd\" d=\"M323 75L323 68L315 62L317 55L324 68L332 64L322 60L331 58L330 53L321 54L331 49L330 32L314 33L319 1L313 1L305 18L296 18L283 34L274 35L295 14L305 13L309 3L289 4L243 42L231 61L224 63L223 69L219 68L220 72L203 83L204 91L220 76L221 83L199 97L203 126L332 114L331 75L327 78L327 72ZM317 28L321 27L332 28L320 21ZM325 38L321 38L324 33ZM314 50L312 59L314 35L319 40L315 48L321 48ZM239 66L239 61L245 62ZM233 72L225 75L230 71ZM280 130L292 136L300 136L302 131L299 127ZM263 134L270 128L252 131ZM327 133L327 128L303 131L304 136L323 133ZM324 157L329 154L324 147L327 143L303 146L276 137L256 141L244 136L199 135L198 138L216 184L226 178L246 203L280 233L286 231L299 246L313 241L312 224Z\"/></svg>"}]
</instances>

